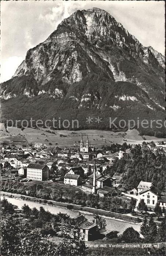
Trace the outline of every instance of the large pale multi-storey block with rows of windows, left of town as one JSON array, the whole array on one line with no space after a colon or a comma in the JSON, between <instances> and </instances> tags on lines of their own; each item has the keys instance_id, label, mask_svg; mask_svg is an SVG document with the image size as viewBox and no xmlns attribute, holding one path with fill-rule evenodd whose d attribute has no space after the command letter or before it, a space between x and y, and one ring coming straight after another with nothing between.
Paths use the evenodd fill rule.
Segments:
<instances>
[{"instance_id":1,"label":"large pale multi-storey block with rows of windows, left of town","mask_svg":"<svg viewBox=\"0 0 166 256\"><path fill-rule=\"evenodd\" d=\"M49 168L46 165L30 163L27 166L27 178L32 180L47 180L49 178Z\"/></svg>"}]
</instances>

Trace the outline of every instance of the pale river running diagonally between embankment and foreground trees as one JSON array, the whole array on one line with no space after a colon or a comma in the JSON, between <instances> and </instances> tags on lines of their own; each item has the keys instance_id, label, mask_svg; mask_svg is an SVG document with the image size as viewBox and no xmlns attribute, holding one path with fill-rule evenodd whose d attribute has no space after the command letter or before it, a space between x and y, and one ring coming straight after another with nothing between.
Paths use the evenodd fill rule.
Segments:
<instances>
[{"instance_id":1,"label":"pale river running diagonally between embankment and foreground trees","mask_svg":"<svg viewBox=\"0 0 166 256\"><path fill-rule=\"evenodd\" d=\"M17 199L17 198L10 198L10 197L5 197L5 198L8 200L8 202L18 206L19 209L21 209L21 207L24 204L28 204L30 208L36 207L37 209L39 209L42 206L46 211L49 211L52 214L57 214L59 212L62 212L62 213L67 213L68 215L70 215L71 218L78 216L78 211L68 210L68 209L64 209L64 208L60 208L60 207L56 207L56 206L50 206L47 204L24 201L22 199ZM3 199L3 196L1 196L1 199ZM87 212L86 213L83 212L82 214L88 219L88 221L93 220L93 214L87 214ZM135 229L136 231L138 231L138 232L140 231L140 224L133 224L133 223L124 222L124 221L117 221L110 217L105 217L105 220L106 220L106 224L107 224L107 226L106 226L107 229L118 231L119 232L118 234L122 234L123 231L125 229L127 229L128 227L133 227L133 229Z\"/></svg>"}]
</instances>

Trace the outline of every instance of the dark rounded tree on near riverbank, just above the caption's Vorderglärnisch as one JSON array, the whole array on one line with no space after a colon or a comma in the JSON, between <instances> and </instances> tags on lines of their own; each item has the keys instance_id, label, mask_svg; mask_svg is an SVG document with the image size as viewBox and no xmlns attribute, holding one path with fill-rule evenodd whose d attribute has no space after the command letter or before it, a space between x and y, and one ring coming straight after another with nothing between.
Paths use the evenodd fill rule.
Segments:
<instances>
[{"instance_id":1,"label":"dark rounded tree on near riverbank, just above the caption's Vordergl\u00e4rnisch","mask_svg":"<svg viewBox=\"0 0 166 256\"><path fill-rule=\"evenodd\" d=\"M133 227L128 227L120 237L121 241L132 243L139 242L140 235L139 233L133 229Z\"/></svg>"}]
</instances>

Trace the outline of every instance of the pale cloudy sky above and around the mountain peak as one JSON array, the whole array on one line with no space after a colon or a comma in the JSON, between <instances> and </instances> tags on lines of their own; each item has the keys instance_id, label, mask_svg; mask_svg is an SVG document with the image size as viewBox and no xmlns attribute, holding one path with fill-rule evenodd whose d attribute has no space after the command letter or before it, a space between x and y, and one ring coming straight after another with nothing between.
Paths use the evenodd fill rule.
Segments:
<instances>
[{"instance_id":1,"label":"pale cloudy sky above and around the mountain peak","mask_svg":"<svg viewBox=\"0 0 166 256\"><path fill-rule=\"evenodd\" d=\"M64 18L92 7L109 12L144 46L165 55L164 1L1 0L0 5L0 82L10 79L27 50L45 41Z\"/></svg>"}]
</instances>

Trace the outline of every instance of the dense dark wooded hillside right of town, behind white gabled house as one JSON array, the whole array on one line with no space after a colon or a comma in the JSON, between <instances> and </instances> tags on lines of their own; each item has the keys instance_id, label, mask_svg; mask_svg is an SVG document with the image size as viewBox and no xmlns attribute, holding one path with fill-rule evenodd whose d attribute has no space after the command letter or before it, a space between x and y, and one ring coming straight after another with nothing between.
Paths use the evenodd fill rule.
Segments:
<instances>
[{"instance_id":1,"label":"dense dark wooded hillside right of town, behind white gabled house","mask_svg":"<svg viewBox=\"0 0 166 256\"><path fill-rule=\"evenodd\" d=\"M107 174L116 174L126 189L137 188L141 180L152 184L166 192L166 155L156 150L155 154L146 146L136 145L131 149L131 155L126 154L106 170Z\"/></svg>"}]
</instances>

